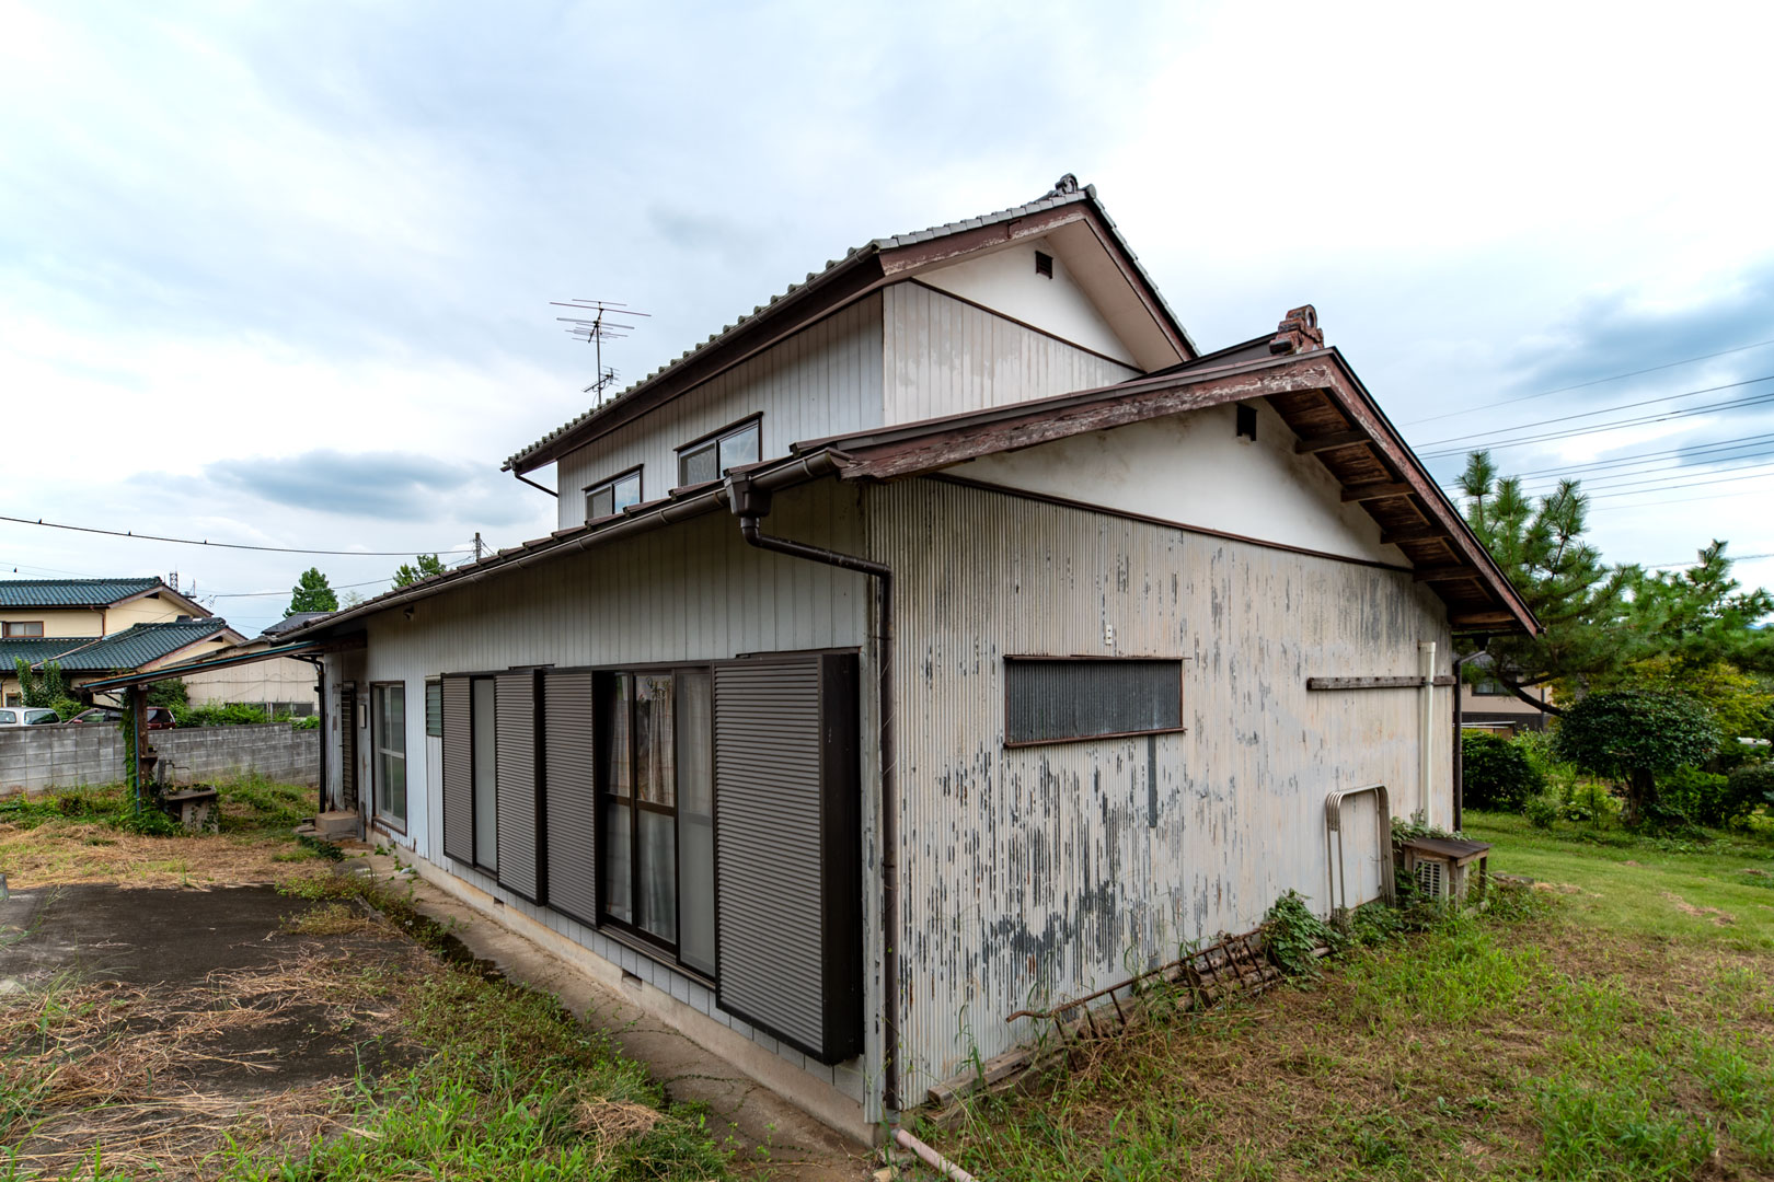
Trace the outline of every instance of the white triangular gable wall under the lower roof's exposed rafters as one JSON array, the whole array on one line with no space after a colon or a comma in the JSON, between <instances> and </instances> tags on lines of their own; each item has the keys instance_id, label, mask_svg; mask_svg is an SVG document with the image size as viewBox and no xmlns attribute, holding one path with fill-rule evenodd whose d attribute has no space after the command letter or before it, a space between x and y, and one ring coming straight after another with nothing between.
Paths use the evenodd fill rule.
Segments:
<instances>
[{"instance_id":1,"label":"white triangular gable wall under the lower roof's exposed rafters","mask_svg":"<svg viewBox=\"0 0 1774 1182\"><path fill-rule=\"evenodd\" d=\"M1236 409L1213 406L1057 443L986 455L947 471L1162 521L1299 546L1343 558L1410 565L1380 526L1295 434L1256 404L1256 441L1236 434Z\"/></svg>"}]
</instances>

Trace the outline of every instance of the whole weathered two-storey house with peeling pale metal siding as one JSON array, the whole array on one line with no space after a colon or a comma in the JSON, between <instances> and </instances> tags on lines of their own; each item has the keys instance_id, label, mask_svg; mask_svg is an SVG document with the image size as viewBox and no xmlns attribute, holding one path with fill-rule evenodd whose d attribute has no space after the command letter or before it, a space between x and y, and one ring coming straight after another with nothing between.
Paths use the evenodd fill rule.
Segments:
<instances>
[{"instance_id":1,"label":"whole weathered two-storey house with peeling pale metal siding","mask_svg":"<svg viewBox=\"0 0 1774 1182\"><path fill-rule=\"evenodd\" d=\"M867 1136L1329 911L1329 794L1451 824L1453 634L1536 624L1322 342L1203 354L1071 177L875 239L513 455L557 532L293 633L332 799Z\"/></svg>"}]
</instances>

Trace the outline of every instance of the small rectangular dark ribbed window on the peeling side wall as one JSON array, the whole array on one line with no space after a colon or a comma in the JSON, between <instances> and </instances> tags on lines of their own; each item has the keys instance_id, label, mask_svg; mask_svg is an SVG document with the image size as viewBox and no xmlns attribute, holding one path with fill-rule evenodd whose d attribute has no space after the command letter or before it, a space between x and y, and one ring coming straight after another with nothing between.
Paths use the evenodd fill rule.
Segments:
<instances>
[{"instance_id":1,"label":"small rectangular dark ribbed window on the peeling side wall","mask_svg":"<svg viewBox=\"0 0 1774 1182\"><path fill-rule=\"evenodd\" d=\"M1004 661L1004 744L1068 743L1183 728L1183 663Z\"/></svg>"}]
</instances>

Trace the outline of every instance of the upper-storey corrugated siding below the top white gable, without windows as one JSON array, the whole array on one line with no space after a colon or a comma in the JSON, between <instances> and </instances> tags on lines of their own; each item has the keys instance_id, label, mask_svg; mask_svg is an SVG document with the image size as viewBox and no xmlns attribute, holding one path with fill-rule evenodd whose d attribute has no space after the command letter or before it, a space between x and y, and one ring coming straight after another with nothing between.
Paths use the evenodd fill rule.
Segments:
<instances>
[{"instance_id":1,"label":"upper-storey corrugated siding below the top white gable, without windows","mask_svg":"<svg viewBox=\"0 0 1774 1182\"><path fill-rule=\"evenodd\" d=\"M882 292L889 424L1091 390L1139 376L917 284Z\"/></svg>"}]
</instances>

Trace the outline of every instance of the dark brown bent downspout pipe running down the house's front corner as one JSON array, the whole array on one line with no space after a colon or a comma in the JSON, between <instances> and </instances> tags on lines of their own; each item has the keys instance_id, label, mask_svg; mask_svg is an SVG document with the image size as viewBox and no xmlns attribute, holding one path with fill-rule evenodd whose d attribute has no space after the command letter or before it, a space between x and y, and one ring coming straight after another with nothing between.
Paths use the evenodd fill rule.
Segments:
<instances>
[{"instance_id":1,"label":"dark brown bent downspout pipe running down the house's front corner","mask_svg":"<svg viewBox=\"0 0 1774 1182\"><path fill-rule=\"evenodd\" d=\"M804 461L805 463L805 461ZM812 475L809 470L807 475ZM894 725L892 725L892 567L763 532L770 516L770 489L742 475L729 475L727 505L740 519L740 537L747 546L770 549L791 558L823 562L843 571L855 571L875 579L876 636L880 645L878 698L882 750L882 1106L899 1111L899 822L898 792L894 785Z\"/></svg>"}]
</instances>

